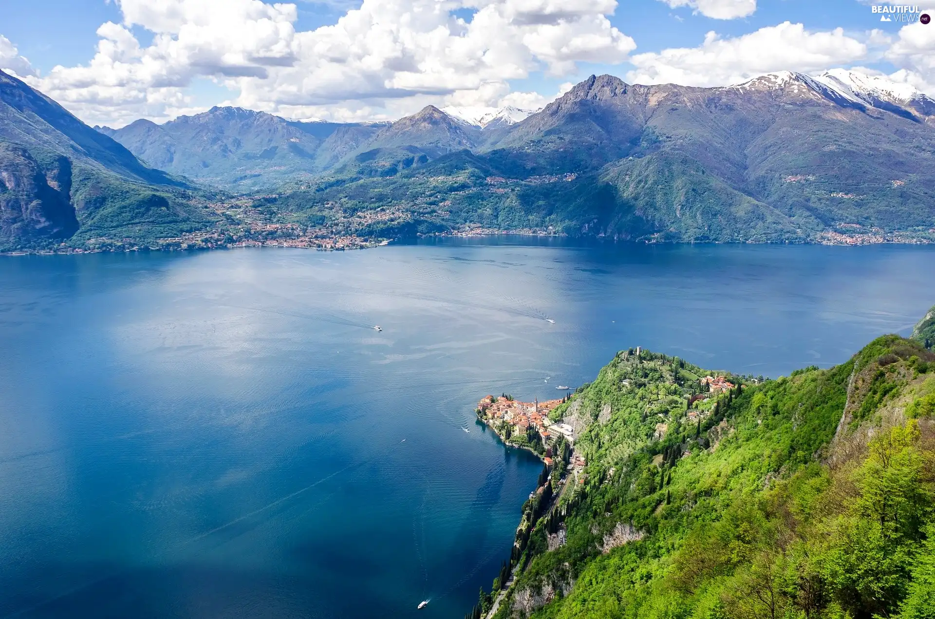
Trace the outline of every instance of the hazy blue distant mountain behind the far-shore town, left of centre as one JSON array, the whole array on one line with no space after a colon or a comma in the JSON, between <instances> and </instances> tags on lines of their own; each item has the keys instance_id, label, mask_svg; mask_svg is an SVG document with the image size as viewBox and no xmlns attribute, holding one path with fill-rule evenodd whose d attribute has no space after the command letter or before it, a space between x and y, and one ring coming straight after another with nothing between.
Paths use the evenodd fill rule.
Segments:
<instances>
[{"instance_id":1,"label":"hazy blue distant mountain behind the far-shore town, left of centre","mask_svg":"<svg viewBox=\"0 0 935 619\"><path fill-rule=\"evenodd\" d=\"M122 129L97 127L151 166L212 185L276 188L335 166L385 123L295 122L244 108L207 112Z\"/></svg>"}]
</instances>

